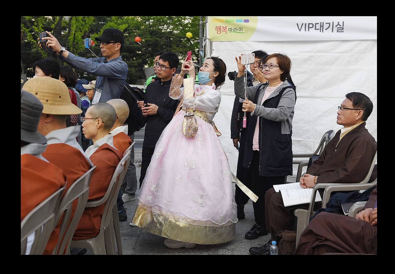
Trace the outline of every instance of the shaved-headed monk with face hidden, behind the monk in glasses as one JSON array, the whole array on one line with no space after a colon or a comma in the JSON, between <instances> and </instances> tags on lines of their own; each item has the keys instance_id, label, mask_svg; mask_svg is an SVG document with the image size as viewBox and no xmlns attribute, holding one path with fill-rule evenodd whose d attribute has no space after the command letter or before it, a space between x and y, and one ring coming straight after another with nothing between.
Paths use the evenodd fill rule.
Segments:
<instances>
[{"instance_id":1,"label":"shaved-headed monk with face hidden, behind the monk in glasses","mask_svg":"<svg viewBox=\"0 0 395 274\"><path fill-rule=\"evenodd\" d=\"M126 101L122 99L111 99L107 101L107 104L110 104L111 106L114 107L115 113L117 115L117 119L115 120L115 123L111 128L111 134L113 135L114 146L120 152L125 153L126 149L132 144L132 140L128 136L128 125L125 124L126 119L129 117L129 106L126 103ZM132 154L130 156L132 157ZM127 189L128 191L132 189L130 187L130 182L133 181L130 180L133 175L132 168L134 167L134 170L136 169L133 162L134 162L134 151L133 151L133 161L132 159L130 159L128 171L126 172L126 176L124 177L121 186L121 188L124 190L125 193L122 195L122 191L120 189L117 198L118 218L120 222L124 222L128 219L128 216L126 214L126 208L123 205L124 201L122 200L122 198L126 196L132 196L131 194L133 194L132 200L135 200L134 193L137 189L137 177L135 175L134 175L135 177L134 192L128 194L125 191L125 189ZM129 183L129 187L128 187L128 183ZM128 199L127 201L131 201L131 200Z\"/></svg>"}]
</instances>

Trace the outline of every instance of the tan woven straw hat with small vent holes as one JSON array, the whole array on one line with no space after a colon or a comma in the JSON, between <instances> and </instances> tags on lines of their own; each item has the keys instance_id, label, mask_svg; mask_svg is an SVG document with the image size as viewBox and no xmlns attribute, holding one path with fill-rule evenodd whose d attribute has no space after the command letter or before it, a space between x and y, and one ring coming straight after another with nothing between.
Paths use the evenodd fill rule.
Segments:
<instances>
[{"instance_id":1,"label":"tan woven straw hat with small vent holes","mask_svg":"<svg viewBox=\"0 0 395 274\"><path fill-rule=\"evenodd\" d=\"M36 77L29 79L23 89L40 100L42 113L54 115L80 114L82 110L71 103L68 87L60 80L52 77Z\"/></svg>"}]
</instances>

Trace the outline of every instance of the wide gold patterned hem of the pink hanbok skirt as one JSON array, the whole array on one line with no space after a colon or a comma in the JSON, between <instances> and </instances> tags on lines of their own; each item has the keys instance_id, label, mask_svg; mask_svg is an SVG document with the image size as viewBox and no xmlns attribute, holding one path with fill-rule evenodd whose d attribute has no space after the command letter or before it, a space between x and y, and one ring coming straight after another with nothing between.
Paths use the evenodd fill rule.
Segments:
<instances>
[{"instance_id":1,"label":"wide gold patterned hem of the pink hanbok skirt","mask_svg":"<svg viewBox=\"0 0 395 274\"><path fill-rule=\"evenodd\" d=\"M176 241L195 244L222 244L235 238L236 224L198 226L187 224L149 211L137 205L132 222L140 228Z\"/></svg>"}]
</instances>

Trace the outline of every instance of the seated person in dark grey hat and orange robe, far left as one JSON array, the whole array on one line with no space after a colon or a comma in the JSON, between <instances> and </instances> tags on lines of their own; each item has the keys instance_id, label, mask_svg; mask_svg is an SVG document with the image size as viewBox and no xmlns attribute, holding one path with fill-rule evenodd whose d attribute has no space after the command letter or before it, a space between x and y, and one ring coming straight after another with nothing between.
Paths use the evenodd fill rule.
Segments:
<instances>
[{"instance_id":1,"label":"seated person in dark grey hat and orange robe, far left","mask_svg":"<svg viewBox=\"0 0 395 274\"><path fill-rule=\"evenodd\" d=\"M21 221L26 215L66 184L62 169L41 154L47 140L37 131L43 105L34 95L21 90ZM28 236L26 254L34 240ZM54 246L55 247L55 246ZM49 250L49 252L52 252Z\"/></svg>"}]
</instances>

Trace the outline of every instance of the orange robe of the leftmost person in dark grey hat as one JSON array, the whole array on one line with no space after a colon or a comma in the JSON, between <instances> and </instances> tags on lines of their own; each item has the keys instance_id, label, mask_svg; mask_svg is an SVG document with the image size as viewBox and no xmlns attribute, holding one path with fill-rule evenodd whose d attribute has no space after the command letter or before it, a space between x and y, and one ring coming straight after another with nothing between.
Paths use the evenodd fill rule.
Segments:
<instances>
[{"instance_id":1,"label":"orange robe of the leftmost person in dark grey hat","mask_svg":"<svg viewBox=\"0 0 395 274\"><path fill-rule=\"evenodd\" d=\"M21 221L66 184L66 175L54 164L30 154L21 155Z\"/></svg>"}]
</instances>

